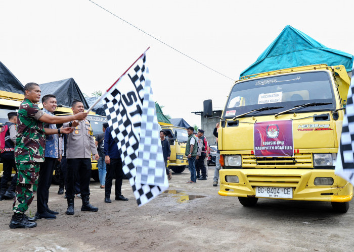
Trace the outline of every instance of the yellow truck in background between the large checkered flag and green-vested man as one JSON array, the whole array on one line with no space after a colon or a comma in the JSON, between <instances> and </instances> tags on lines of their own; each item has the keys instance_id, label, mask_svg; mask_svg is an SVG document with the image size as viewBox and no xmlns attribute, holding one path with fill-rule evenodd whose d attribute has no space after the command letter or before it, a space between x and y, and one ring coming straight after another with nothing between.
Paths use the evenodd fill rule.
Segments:
<instances>
[{"instance_id":1,"label":"yellow truck in background between the large checkered flag and green-vested man","mask_svg":"<svg viewBox=\"0 0 354 252\"><path fill-rule=\"evenodd\" d=\"M166 124L167 123L160 123L161 129L167 133L166 138L171 148L168 168L175 173L181 173L186 169L186 165L188 165L187 156L185 155L188 140L187 130L173 126L172 124Z\"/></svg>"}]
</instances>

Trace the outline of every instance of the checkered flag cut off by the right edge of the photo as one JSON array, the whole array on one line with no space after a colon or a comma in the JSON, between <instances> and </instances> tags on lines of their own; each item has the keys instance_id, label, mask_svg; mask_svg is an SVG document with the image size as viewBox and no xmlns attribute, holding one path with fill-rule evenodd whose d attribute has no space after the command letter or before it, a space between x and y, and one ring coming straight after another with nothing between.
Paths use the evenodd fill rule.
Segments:
<instances>
[{"instance_id":1,"label":"checkered flag cut off by the right edge of the photo","mask_svg":"<svg viewBox=\"0 0 354 252\"><path fill-rule=\"evenodd\" d=\"M354 184L354 69L348 90L335 174Z\"/></svg>"}]
</instances>

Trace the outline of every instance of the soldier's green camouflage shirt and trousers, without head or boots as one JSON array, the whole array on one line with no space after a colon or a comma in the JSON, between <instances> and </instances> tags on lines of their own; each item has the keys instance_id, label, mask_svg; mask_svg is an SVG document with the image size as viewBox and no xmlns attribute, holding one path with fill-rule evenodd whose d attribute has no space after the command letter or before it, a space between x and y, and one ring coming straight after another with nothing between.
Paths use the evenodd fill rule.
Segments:
<instances>
[{"instance_id":1,"label":"soldier's green camouflage shirt and trousers, without head or boots","mask_svg":"<svg viewBox=\"0 0 354 252\"><path fill-rule=\"evenodd\" d=\"M39 163L44 162L45 130L38 119L44 114L36 104L25 99L18 110L15 161L18 170L15 213L24 213L37 191Z\"/></svg>"}]
</instances>

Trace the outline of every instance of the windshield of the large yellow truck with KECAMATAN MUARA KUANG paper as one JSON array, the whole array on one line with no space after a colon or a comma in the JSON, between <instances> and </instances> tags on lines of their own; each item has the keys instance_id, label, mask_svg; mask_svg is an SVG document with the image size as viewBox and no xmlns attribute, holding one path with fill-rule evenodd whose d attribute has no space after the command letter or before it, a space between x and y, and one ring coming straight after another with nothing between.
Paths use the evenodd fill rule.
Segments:
<instances>
[{"instance_id":1,"label":"windshield of the large yellow truck with KECAMATAN MUARA KUANG paper","mask_svg":"<svg viewBox=\"0 0 354 252\"><path fill-rule=\"evenodd\" d=\"M329 104L294 109L291 113L297 110L308 112L335 108L332 85L327 72L289 74L237 83L229 95L224 116L234 117L264 106L279 106L278 109L254 112L245 116L275 114L313 102Z\"/></svg>"}]
</instances>

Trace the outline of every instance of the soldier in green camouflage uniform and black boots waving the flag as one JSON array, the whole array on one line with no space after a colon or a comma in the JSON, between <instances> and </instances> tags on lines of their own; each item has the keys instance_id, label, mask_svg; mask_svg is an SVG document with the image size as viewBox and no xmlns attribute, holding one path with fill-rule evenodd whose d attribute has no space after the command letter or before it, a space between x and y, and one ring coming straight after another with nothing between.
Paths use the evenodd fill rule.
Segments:
<instances>
[{"instance_id":1,"label":"soldier in green camouflage uniform and black boots waving the flag","mask_svg":"<svg viewBox=\"0 0 354 252\"><path fill-rule=\"evenodd\" d=\"M31 228L37 224L35 218L25 215L37 190L39 163L44 161L45 134L71 133L71 128L45 129L43 122L64 123L71 120L82 120L87 113L67 116L50 116L35 104L40 99L40 88L36 83L28 83L24 87L25 99L18 110L17 139L15 161L18 170L16 196L13 204L14 215L10 228ZM73 125L75 126L75 125Z\"/></svg>"}]
</instances>

